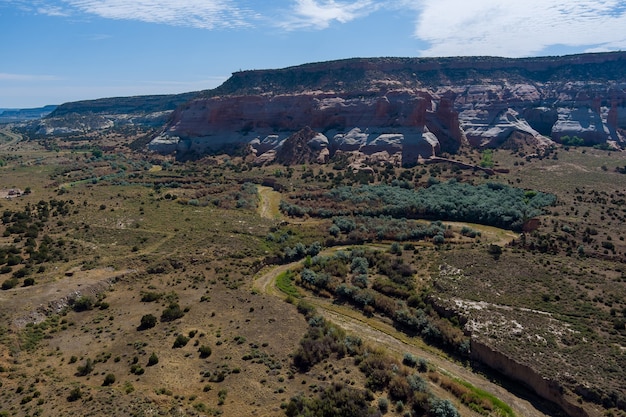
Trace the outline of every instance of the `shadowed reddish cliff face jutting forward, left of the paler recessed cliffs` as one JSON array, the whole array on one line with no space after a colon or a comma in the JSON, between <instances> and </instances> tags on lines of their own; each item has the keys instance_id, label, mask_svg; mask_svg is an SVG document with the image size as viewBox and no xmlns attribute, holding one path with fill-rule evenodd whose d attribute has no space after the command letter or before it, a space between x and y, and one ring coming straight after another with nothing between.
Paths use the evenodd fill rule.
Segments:
<instances>
[{"instance_id":1,"label":"shadowed reddish cliff face jutting forward, left of the paler recessed cliffs","mask_svg":"<svg viewBox=\"0 0 626 417\"><path fill-rule=\"evenodd\" d=\"M365 155L386 151L415 163L419 156L433 156L441 140L452 148L460 146L458 125L454 137L443 133L439 124L432 127L442 132L441 139L429 131L427 119L436 119L432 106L429 94L407 90L383 96L367 92L367 96L303 93L198 98L179 108L171 127L148 147L159 151L166 145L171 150L177 143L178 152L202 153L249 143L260 157L290 145L288 138L307 127L315 133L310 139L317 137L319 142L312 145L318 154L309 159L324 161L337 151Z\"/></svg>"}]
</instances>

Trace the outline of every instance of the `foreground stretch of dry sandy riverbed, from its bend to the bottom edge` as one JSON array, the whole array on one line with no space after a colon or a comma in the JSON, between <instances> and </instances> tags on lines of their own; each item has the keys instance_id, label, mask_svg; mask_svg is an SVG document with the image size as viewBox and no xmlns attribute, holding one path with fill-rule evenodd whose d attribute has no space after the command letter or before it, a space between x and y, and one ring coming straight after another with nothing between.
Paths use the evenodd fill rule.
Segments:
<instances>
[{"instance_id":1,"label":"foreground stretch of dry sandy riverbed, from its bend to the bottom edge","mask_svg":"<svg viewBox=\"0 0 626 417\"><path fill-rule=\"evenodd\" d=\"M336 248L335 250L338 249L340 248ZM265 294L271 294L277 297L282 296L283 294L275 285L276 277L284 271L296 268L299 264L300 262L293 262L274 267L270 270L264 270L261 275L254 280L252 284L253 288ZM473 386L495 395L508 404L518 417L548 417L548 414L544 414L536 409L528 400L518 397L484 376L472 372L471 369L459 365L449 359L443 352L424 344L421 339L410 337L397 331L392 324L384 318L366 318L360 312L348 306L336 305L328 299L315 297L310 294L307 294L305 299L313 304L324 318L332 321L346 331L357 334L363 340L374 345L383 346L397 356L408 352L417 357L425 358L430 364L436 366L442 372L460 380L467 381ZM463 415L466 415L466 413L463 413Z\"/></svg>"}]
</instances>

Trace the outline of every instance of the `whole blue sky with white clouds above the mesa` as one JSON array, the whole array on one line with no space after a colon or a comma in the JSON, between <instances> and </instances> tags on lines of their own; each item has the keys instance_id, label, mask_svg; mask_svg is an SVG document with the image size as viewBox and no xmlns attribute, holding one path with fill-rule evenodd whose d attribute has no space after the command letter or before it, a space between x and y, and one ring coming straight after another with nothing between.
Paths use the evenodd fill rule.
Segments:
<instances>
[{"instance_id":1,"label":"whole blue sky with white clouds above the mesa","mask_svg":"<svg viewBox=\"0 0 626 417\"><path fill-rule=\"evenodd\" d=\"M0 0L0 108L353 57L626 50L626 0Z\"/></svg>"}]
</instances>

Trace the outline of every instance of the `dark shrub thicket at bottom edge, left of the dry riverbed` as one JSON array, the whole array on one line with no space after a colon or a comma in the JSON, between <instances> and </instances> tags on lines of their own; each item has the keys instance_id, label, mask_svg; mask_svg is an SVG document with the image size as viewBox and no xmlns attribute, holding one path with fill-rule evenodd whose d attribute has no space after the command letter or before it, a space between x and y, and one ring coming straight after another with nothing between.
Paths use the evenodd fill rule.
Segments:
<instances>
[{"instance_id":1,"label":"dark shrub thicket at bottom edge, left of the dry riverbed","mask_svg":"<svg viewBox=\"0 0 626 417\"><path fill-rule=\"evenodd\" d=\"M304 303L301 301L301 304ZM415 415L433 417L459 416L450 401L439 399L430 392L426 380L412 367L402 365L383 350L367 346L358 337L347 335L317 316L310 306L300 308L299 305L299 310L309 318L309 328L293 357L294 364L306 371L331 356L351 356L366 378L367 389L359 390L335 383L321 390L317 396L298 394L287 404L287 416L381 416L388 411L389 400L394 402L396 411L412 411ZM420 372L427 370L427 367L420 368ZM370 405L374 399L373 392L387 394L379 400L378 408Z\"/></svg>"}]
</instances>

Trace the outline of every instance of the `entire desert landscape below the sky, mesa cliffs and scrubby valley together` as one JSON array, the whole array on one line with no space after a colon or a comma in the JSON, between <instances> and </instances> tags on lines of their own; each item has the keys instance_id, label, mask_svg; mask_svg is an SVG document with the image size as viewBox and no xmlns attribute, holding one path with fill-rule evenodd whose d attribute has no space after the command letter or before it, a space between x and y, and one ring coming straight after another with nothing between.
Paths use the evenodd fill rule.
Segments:
<instances>
[{"instance_id":1,"label":"entire desert landscape below the sky, mesa cliffs and scrubby valley together","mask_svg":"<svg viewBox=\"0 0 626 417\"><path fill-rule=\"evenodd\" d=\"M0 113L0 416L626 416L626 52Z\"/></svg>"}]
</instances>

